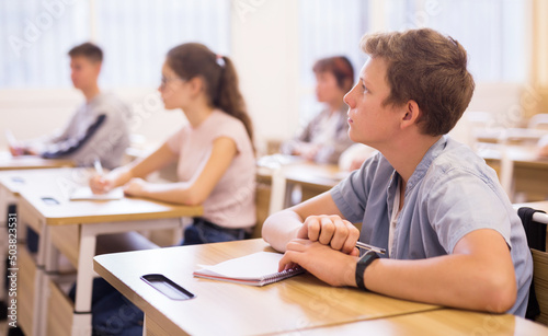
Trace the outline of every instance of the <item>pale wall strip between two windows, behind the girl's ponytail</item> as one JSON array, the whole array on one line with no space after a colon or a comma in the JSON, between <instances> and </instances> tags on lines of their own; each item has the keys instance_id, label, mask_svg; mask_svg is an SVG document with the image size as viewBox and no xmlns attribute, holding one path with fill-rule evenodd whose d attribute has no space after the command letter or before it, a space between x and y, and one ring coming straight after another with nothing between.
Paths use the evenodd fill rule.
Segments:
<instances>
[{"instance_id":1,"label":"pale wall strip between two windows, behind the girl's ponytail","mask_svg":"<svg viewBox=\"0 0 548 336\"><path fill-rule=\"evenodd\" d=\"M236 0L235 7L232 58L261 152L264 140L290 138L298 127L298 1Z\"/></svg>"}]
</instances>

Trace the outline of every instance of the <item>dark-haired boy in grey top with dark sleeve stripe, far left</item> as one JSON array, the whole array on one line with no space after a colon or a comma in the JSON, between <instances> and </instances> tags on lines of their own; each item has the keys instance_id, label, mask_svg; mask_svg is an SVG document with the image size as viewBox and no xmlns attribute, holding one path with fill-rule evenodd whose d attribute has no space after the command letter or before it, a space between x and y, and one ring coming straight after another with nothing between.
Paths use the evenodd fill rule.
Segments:
<instances>
[{"instance_id":1,"label":"dark-haired boy in grey top with dark sleeve stripe, far left","mask_svg":"<svg viewBox=\"0 0 548 336\"><path fill-rule=\"evenodd\" d=\"M114 169L121 164L129 146L129 108L114 94L101 92L99 88L101 48L84 43L70 49L68 55L72 84L83 93L85 103L60 134L21 142L10 147L10 151L13 155L70 159L79 166L91 166L99 159L103 166Z\"/></svg>"}]
</instances>

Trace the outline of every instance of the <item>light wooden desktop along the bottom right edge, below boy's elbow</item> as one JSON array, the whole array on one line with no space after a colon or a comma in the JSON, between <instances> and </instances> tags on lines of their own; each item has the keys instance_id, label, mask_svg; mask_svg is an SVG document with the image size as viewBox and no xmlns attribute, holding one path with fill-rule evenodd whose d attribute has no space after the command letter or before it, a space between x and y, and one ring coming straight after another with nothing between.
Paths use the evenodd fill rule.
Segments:
<instances>
[{"instance_id":1,"label":"light wooden desktop along the bottom right edge, below boy's elbow","mask_svg":"<svg viewBox=\"0 0 548 336\"><path fill-rule=\"evenodd\" d=\"M443 309L312 328L301 335L548 335L541 324L510 314Z\"/></svg>"}]
</instances>

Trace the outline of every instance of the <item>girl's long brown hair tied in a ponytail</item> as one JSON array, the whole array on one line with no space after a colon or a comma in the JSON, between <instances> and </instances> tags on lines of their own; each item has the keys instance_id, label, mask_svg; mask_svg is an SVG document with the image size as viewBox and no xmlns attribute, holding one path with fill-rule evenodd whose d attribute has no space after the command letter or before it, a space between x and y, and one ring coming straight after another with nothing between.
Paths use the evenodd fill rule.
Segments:
<instances>
[{"instance_id":1,"label":"girl's long brown hair tied in a ponytail","mask_svg":"<svg viewBox=\"0 0 548 336\"><path fill-rule=\"evenodd\" d=\"M201 77L210 104L242 121L253 142L253 126L230 58L216 55L202 44L185 43L169 50L167 62L184 80Z\"/></svg>"}]
</instances>

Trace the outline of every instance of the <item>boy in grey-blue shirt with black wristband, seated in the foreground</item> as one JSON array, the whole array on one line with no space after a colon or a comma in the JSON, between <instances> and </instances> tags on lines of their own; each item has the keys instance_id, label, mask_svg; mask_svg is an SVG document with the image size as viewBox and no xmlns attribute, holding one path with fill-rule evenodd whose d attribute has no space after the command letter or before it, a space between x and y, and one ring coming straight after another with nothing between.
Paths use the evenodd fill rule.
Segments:
<instances>
[{"instance_id":1,"label":"boy in grey-blue shirt with black wristband, seated in the foreground","mask_svg":"<svg viewBox=\"0 0 548 336\"><path fill-rule=\"evenodd\" d=\"M364 36L345 95L350 137L379 153L328 193L272 215L263 236L332 286L524 316L533 263L496 174L446 134L472 96L467 54L430 28ZM351 223L363 222L362 232ZM356 241L386 248L358 258Z\"/></svg>"}]
</instances>

